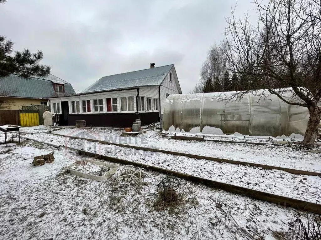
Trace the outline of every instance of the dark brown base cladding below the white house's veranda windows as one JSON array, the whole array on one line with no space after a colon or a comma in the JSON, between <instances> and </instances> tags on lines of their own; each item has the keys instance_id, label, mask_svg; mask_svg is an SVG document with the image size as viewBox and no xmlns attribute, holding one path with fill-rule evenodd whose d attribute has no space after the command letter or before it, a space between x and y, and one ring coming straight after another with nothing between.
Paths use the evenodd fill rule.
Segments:
<instances>
[{"instance_id":1,"label":"dark brown base cladding below the white house's veranda windows","mask_svg":"<svg viewBox=\"0 0 321 240\"><path fill-rule=\"evenodd\" d=\"M159 112L139 113L142 125L159 121ZM137 113L68 114L68 125L75 126L77 120L85 120L86 126L131 127L139 116Z\"/></svg>"}]
</instances>

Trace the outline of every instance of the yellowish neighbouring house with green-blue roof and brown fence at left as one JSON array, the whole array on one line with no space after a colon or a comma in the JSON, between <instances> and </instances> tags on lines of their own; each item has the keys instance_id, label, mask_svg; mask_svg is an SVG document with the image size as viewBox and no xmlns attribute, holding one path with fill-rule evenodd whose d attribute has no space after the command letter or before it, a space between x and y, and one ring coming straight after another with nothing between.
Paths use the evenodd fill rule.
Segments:
<instances>
[{"instance_id":1,"label":"yellowish neighbouring house with green-blue roof and brown fence at left","mask_svg":"<svg viewBox=\"0 0 321 240\"><path fill-rule=\"evenodd\" d=\"M71 84L51 74L43 78L14 74L0 78L0 125L20 124L22 106L47 105L48 97L70 94L75 94Z\"/></svg>"}]
</instances>

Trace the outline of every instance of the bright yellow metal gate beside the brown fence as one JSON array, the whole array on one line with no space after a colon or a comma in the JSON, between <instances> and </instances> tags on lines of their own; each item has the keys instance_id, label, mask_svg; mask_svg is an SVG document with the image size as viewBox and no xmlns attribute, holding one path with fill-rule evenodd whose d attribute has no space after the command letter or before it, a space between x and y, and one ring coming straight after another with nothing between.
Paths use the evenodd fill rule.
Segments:
<instances>
[{"instance_id":1,"label":"bright yellow metal gate beside the brown fence","mask_svg":"<svg viewBox=\"0 0 321 240\"><path fill-rule=\"evenodd\" d=\"M31 127L44 124L43 113L48 107L45 105L19 106L20 124L22 127ZM49 108L48 108L49 109Z\"/></svg>"}]
</instances>

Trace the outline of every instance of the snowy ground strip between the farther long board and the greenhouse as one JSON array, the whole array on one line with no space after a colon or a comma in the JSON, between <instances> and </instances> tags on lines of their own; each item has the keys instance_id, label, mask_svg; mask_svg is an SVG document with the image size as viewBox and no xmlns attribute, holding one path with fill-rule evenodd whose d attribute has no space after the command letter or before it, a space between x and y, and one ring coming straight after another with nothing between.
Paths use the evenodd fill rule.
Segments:
<instances>
[{"instance_id":1,"label":"snowy ground strip between the farther long board and the greenhouse","mask_svg":"<svg viewBox=\"0 0 321 240\"><path fill-rule=\"evenodd\" d=\"M147 130L145 133L143 133L142 135L138 135L137 137L120 136L122 131L122 128L77 129L68 127L62 130L57 130L55 131L55 133L150 148L172 150L202 156L226 158L243 162L321 172L321 154L319 152L308 152L300 147L290 145L279 147L273 145L250 145L212 141L202 142L195 140L174 140L171 138L161 137L163 133L157 130ZM172 132L169 132L169 134L172 134ZM275 139L272 138L270 138L269 140L268 138L262 137L244 138L244 136L240 137L228 135L225 135L223 137L224 138L211 137L210 139L275 143ZM321 150L321 148L316 147L316 150Z\"/></svg>"}]
</instances>

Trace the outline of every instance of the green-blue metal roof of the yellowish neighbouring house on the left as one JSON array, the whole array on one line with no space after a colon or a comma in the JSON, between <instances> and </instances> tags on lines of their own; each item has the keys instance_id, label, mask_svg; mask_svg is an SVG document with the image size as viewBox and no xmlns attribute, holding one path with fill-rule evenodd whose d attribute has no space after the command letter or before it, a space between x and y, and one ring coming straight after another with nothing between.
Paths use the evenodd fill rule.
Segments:
<instances>
[{"instance_id":1,"label":"green-blue metal roof of the yellowish neighbouring house on the left","mask_svg":"<svg viewBox=\"0 0 321 240\"><path fill-rule=\"evenodd\" d=\"M11 97L23 97L23 98L48 98L51 96L65 96L69 94L75 94L74 88L71 84L63 81L62 79L48 75L47 79L40 79L35 77L22 78L18 75L9 75L4 78L0 78L1 92L9 92L6 96ZM52 79L52 80L49 80ZM57 83L58 80L62 81L59 84L65 85L65 93L57 93L54 90L52 82Z\"/></svg>"}]
</instances>

